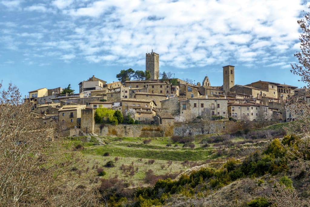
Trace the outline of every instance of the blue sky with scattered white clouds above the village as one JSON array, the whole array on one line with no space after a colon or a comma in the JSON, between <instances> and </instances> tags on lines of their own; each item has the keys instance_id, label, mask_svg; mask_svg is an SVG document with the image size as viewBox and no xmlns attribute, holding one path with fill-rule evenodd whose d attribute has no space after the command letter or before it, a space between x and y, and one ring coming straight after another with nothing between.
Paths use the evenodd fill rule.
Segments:
<instances>
[{"instance_id":1,"label":"blue sky with scattered white clouds above the village","mask_svg":"<svg viewBox=\"0 0 310 207\"><path fill-rule=\"evenodd\" d=\"M258 80L298 87L290 73L299 49L297 20L307 1L0 0L0 80L23 95L67 87L92 75L117 81L122 69L145 70L145 53L180 79L223 84Z\"/></svg>"}]
</instances>

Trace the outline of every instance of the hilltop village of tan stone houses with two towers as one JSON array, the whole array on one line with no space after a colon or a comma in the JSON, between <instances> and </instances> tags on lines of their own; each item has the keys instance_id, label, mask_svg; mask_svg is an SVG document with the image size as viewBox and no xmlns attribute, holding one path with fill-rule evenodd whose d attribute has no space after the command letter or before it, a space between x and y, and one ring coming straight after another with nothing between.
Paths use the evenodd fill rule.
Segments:
<instances>
[{"instance_id":1,"label":"hilltop village of tan stone houses with two towers","mask_svg":"<svg viewBox=\"0 0 310 207\"><path fill-rule=\"evenodd\" d=\"M107 83L93 75L79 83L78 93L64 94L60 87L40 88L30 91L25 100L31 102L42 127L56 122L68 135L78 130L115 136L142 136L141 131L164 131L164 135L228 132L237 127L228 124L230 121L289 122L298 119L290 100L310 102L306 89L291 85L262 80L235 85L232 65L223 67L222 86L212 86L207 76L197 84L159 79L159 55L153 51L146 53L145 70L151 75L148 80ZM117 128L109 124L108 116L96 121L99 108L119 110L136 127ZM137 128L145 124L157 128Z\"/></svg>"}]
</instances>

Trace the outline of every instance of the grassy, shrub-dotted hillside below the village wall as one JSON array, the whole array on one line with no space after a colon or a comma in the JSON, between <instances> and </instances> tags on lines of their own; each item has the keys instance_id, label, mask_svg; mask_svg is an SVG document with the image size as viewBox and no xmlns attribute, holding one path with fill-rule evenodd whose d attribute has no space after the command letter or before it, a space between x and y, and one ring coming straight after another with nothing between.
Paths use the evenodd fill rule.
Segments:
<instances>
[{"instance_id":1,"label":"grassy, shrub-dotted hillside below the village wall","mask_svg":"<svg viewBox=\"0 0 310 207\"><path fill-rule=\"evenodd\" d=\"M69 145L82 146L109 206L248 206L290 174L285 126L195 137L73 137Z\"/></svg>"}]
</instances>

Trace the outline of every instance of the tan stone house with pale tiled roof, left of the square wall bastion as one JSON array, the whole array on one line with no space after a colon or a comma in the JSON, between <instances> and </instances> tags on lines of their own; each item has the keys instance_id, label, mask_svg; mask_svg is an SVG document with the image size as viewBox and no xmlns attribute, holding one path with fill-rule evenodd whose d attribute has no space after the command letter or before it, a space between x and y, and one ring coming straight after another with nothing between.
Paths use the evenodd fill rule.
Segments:
<instances>
[{"instance_id":1,"label":"tan stone house with pale tiled roof, left of the square wall bastion","mask_svg":"<svg viewBox=\"0 0 310 207\"><path fill-rule=\"evenodd\" d=\"M65 105L58 110L58 119L60 124L66 128L77 128L81 124L81 110L85 109L86 105Z\"/></svg>"}]
</instances>

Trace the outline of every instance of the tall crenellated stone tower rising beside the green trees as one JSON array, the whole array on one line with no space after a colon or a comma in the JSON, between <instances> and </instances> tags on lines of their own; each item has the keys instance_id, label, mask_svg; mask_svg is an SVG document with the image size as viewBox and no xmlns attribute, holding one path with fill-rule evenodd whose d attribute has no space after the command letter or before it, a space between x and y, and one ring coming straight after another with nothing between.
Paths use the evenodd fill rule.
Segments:
<instances>
[{"instance_id":1,"label":"tall crenellated stone tower rising beside the green trees","mask_svg":"<svg viewBox=\"0 0 310 207\"><path fill-rule=\"evenodd\" d=\"M159 55L155 52L145 54L145 71L149 71L152 79L159 79Z\"/></svg>"}]
</instances>

